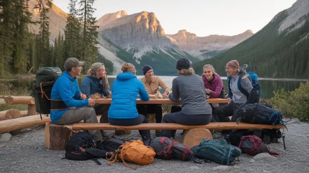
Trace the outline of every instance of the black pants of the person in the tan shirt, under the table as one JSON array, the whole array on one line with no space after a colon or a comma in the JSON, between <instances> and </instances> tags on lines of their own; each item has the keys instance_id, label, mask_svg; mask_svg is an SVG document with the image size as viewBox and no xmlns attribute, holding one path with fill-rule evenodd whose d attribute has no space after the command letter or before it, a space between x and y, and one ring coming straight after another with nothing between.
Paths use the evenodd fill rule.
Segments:
<instances>
[{"instance_id":1,"label":"black pants of the person in the tan shirt, under the table","mask_svg":"<svg viewBox=\"0 0 309 173\"><path fill-rule=\"evenodd\" d=\"M138 114L145 115L155 114L156 123L162 123L162 105L160 104L137 104L136 109Z\"/></svg>"}]
</instances>

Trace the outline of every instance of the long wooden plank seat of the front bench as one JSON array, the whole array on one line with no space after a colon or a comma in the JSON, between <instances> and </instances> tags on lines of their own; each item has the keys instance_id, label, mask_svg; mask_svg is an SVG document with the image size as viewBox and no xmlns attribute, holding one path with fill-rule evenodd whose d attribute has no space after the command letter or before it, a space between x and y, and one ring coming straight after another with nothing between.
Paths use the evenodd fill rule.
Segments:
<instances>
[{"instance_id":1,"label":"long wooden plank seat of the front bench","mask_svg":"<svg viewBox=\"0 0 309 173\"><path fill-rule=\"evenodd\" d=\"M186 130L193 128L213 129L279 129L282 125L252 124L239 122L209 123L200 126L186 126L177 123L142 123L136 126L114 126L109 123L74 123L73 130Z\"/></svg>"}]
</instances>

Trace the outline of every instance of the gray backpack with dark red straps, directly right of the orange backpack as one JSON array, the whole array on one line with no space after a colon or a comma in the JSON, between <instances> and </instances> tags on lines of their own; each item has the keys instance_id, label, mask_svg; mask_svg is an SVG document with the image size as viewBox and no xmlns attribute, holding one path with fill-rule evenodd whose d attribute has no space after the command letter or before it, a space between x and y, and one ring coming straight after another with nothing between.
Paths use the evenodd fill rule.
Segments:
<instances>
[{"instance_id":1,"label":"gray backpack with dark red straps, directly right of the orange backpack","mask_svg":"<svg viewBox=\"0 0 309 173\"><path fill-rule=\"evenodd\" d=\"M172 145L173 140L167 137L156 137L152 139L149 143L149 147L153 148L156 158L159 159L172 159Z\"/></svg>"}]
</instances>

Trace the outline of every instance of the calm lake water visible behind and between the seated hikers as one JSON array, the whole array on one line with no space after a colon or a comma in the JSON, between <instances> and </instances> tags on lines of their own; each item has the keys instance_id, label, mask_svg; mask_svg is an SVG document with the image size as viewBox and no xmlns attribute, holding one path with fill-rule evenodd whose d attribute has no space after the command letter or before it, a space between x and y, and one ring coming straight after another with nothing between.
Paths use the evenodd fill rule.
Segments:
<instances>
[{"instance_id":1,"label":"calm lake water visible behind and between the seated hikers","mask_svg":"<svg viewBox=\"0 0 309 173\"><path fill-rule=\"evenodd\" d=\"M142 78L143 76L138 76L138 78ZM109 85L112 88L112 83L114 82L116 76L109 76L108 75L108 82ZM171 88L172 81L176 76L160 76L162 80L167 84L168 87ZM81 82L83 80L83 77L78 78L78 84L80 86ZM223 87L225 89L225 92L228 92L227 88L227 78L222 77L223 80ZM33 85L33 79L19 79L19 80L10 80L10 81L0 81L0 82L6 82L6 83L12 83L15 87L28 87L29 90L32 89ZM261 97L268 99L274 96L273 91L277 91L279 88L284 88L285 91L293 91L295 88L299 87L300 82L306 82L306 81L299 81L299 80L293 80L293 79L264 79L259 78L259 83L261 86ZM162 90L161 90L162 92ZM162 92L163 93L163 92Z\"/></svg>"}]
</instances>

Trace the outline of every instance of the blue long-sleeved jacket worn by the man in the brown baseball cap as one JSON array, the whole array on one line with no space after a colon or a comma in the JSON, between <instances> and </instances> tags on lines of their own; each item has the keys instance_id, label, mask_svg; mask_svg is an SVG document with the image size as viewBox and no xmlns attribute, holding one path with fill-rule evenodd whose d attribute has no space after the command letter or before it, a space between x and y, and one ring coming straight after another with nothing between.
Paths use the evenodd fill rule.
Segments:
<instances>
[{"instance_id":1,"label":"blue long-sleeved jacket worn by the man in the brown baseball cap","mask_svg":"<svg viewBox=\"0 0 309 173\"><path fill-rule=\"evenodd\" d=\"M50 99L62 100L67 107L83 107L88 105L88 99L80 100L79 93L82 93L78 87L77 78L72 78L65 71L57 78L53 85ZM50 120L55 123L69 109L50 111Z\"/></svg>"}]
</instances>

